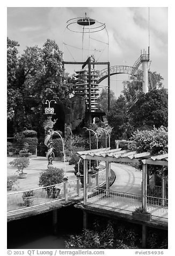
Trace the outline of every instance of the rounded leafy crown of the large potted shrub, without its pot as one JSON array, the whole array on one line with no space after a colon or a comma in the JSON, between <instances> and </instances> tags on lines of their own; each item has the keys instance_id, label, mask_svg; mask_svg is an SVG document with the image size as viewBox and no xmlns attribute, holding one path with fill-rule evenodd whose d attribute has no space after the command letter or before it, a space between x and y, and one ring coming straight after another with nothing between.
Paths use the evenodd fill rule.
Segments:
<instances>
[{"instance_id":1,"label":"rounded leafy crown of the large potted shrub, without its pot","mask_svg":"<svg viewBox=\"0 0 175 256\"><path fill-rule=\"evenodd\" d=\"M49 167L42 170L39 176L39 186L47 187L63 182L64 170L57 167Z\"/></svg>"}]
</instances>

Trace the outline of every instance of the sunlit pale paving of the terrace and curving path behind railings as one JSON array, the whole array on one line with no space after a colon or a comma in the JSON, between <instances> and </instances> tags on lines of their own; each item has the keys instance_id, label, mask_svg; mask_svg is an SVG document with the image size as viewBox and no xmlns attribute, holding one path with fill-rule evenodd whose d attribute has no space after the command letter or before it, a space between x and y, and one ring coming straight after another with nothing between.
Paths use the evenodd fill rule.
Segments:
<instances>
[{"instance_id":1,"label":"sunlit pale paving of the terrace and curving path behind railings","mask_svg":"<svg viewBox=\"0 0 175 256\"><path fill-rule=\"evenodd\" d=\"M13 158L8 157L8 176L9 175L18 175L16 168L12 167L9 162ZM18 184L15 187L16 190L26 190L32 188L38 188L39 185L39 173L43 169L47 169L47 159L45 157L31 158L30 165L25 168L27 173L26 179L18 179ZM64 169L63 161L53 161L55 167ZM69 181L75 180L76 176L74 175L74 165L69 165L68 162L65 162L66 176L68 176ZM135 171L135 168L128 165L123 165L121 163L111 163L111 169L116 175L115 182L111 186L111 190L139 194L141 195L141 182L142 182L142 172Z\"/></svg>"}]
</instances>

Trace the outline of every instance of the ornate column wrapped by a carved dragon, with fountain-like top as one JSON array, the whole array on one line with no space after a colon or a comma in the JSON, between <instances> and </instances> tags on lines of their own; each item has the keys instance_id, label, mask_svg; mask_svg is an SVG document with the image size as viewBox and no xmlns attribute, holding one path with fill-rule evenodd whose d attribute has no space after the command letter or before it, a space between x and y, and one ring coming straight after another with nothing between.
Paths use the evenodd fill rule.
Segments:
<instances>
[{"instance_id":1,"label":"ornate column wrapped by a carved dragon, with fountain-like top","mask_svg":"<svg viewBox=\"0 0 175 256\"><path fill-rule=\"evenodd\" d=\"M54 99L52 99L51 101L48 101L48 99L46 100L45 104L48 103L48 107L45 108L45 113L43 115L47 116L47 120L45 120L43 122L43 127L45 129L45 145L47 146L47 154L46 154L46 158L48 159L48 165L47 167L52 167L52 161L54 158L54 152L53 152L53 141L52 141L52 136L54 134L54 124L56 123L57 119L54 119L54 121L52 121L52 116L55 115L54 113L54 108L50 108L50 103L54 102L56 103L56 101L54 101Z\"/></svg>"}]
</instances>

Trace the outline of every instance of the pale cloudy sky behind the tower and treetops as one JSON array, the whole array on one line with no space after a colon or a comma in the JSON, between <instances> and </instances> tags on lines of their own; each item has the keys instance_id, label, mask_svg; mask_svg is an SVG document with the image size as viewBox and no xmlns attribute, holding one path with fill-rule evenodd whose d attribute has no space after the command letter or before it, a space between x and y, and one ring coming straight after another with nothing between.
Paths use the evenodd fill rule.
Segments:
<instances>
[{"instance_id":1,"label":"pale cloudy sky behind the tower and treetops","mask_svg":"<svg viewBox=\"0 0 175 256\"><path fill-rule=\"evenodd\" d=\"M148 51L150 31L150 70L164 77L163 84L167 88L168 19L166 7L9 7L7 34L10 39L19 42L20 53L23 53L26 46L42 47L49 38L54 39L59 48L63 49L64 61L82 61L82 56L85 61L89 54L87 51L89 49L88 33L84 34L84 39L82 39L82 33L65 29L69 19L83 17L85 12L88 17L105 23L106 30L91 33L90 47L91 54L96 55L96 60L107 61L109 58L111 66L133 66L141 50ZM72 27L72 29L77 29L77 27ZM82 48L82 40L84 42L83 55L82 50L77 49ZM64 48L62 48L62 41ZM65 68L67 72L73 73L80 67L67 65ZM98 69L103 68L105 67L98 66ZM126 75L118 75L117 78L111 76L111 89L116 95L119 95L122 89L121 80L127 78ZM120 81L115 81L116 79Z\"/></svg>"}]
</instances>

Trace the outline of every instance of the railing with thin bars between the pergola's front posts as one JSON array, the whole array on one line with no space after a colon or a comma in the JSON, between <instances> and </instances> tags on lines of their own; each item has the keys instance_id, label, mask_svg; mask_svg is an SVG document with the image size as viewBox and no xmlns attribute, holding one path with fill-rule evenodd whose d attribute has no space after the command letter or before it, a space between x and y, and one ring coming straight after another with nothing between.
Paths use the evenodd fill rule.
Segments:
<instances>
[{"instance_id":1,"label":"railing with thin bars between the pergola's front posts","mask_svg":"<svg viewBox=\"0 0 175 256\"><path fill-rule=\"evenodd\" d=\"M103 188L89 187L91 194L88 196L87 203L100 205L103 209L127 213L133 212L135 208L142 207L142 196L137 194L123 193ZM164 204L162 203L164 201ZM147 196L147 211L153 217L168 218L166 198Z\"/></svg>"}]
</instances>

